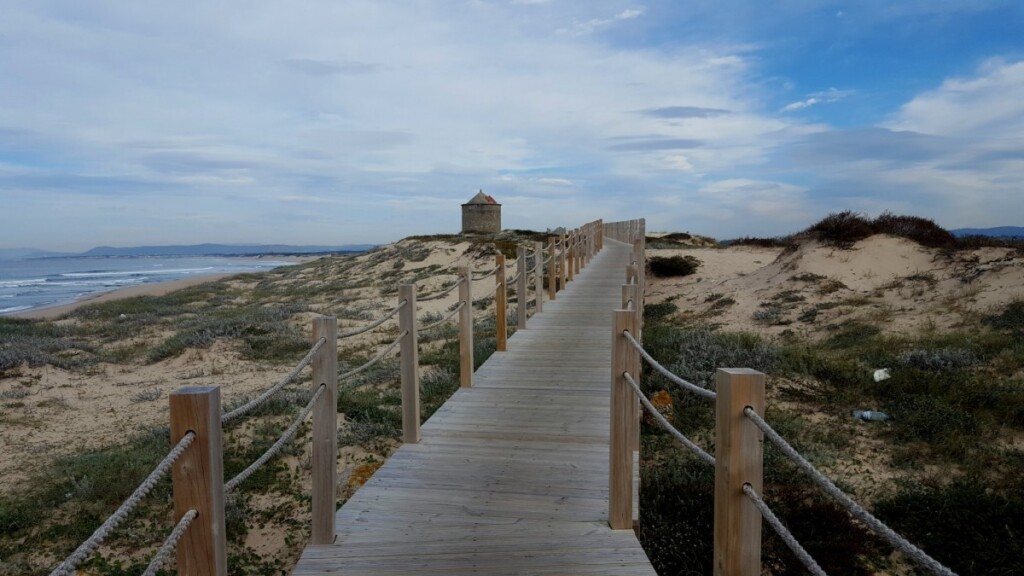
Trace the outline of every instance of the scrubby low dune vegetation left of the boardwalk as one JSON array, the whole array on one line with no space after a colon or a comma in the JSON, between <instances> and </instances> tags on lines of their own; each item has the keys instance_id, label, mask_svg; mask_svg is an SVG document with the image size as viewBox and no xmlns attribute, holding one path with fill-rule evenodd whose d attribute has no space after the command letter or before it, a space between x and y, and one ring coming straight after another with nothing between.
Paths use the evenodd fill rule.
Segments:
<instances>
[{"instance_id":1,"label":"scrubby low dune vegetation left of the boardwalk","mask_svg":"<svg viewBox=\"0 0 1024 576\"><path fill-rule=\"evenodd\" d=\"M514 245L515 237L503 242ZM456 238L410 239L362 256L321 258L164 296L86 305L54 322L0 318L0 380L5 380L0 421L28 419L18 412L31 414L26 401L38 394L36 372L43 367L68 372L80 381L177 363L185 368L167 371L187 384L191 379L225 377L216 364L198 361L204 355L226 354L230 362L284 374L309 347L310 318L333 314L344 331L379 318L393 305L391 297L380 297L384 285L440 277L443 280L434 289L443 289L454 281L453 271L426 260L440 252L456 261L462 255L454 251L458 244ZM466 255L488 262L499 249L481 240L471 244ZM477 365L494 352L496 342L495 322L485 313L482 316L475 330ZM435 312L419 320L424 325L440 319L441 313ZM347 370L362 365L392 340L397 329L379 330L380 334L356 338L357 342L342 341L339 367ZM459 387L458 332L451 324L423 331L420 346L421 416L426 419ZM401 430L398 381L398 364L392 355L340 383L338 411L344 415L344 424L339 445L354 458L351 483L343 490L346 497L397 446ZM141 384L124 388L133 405L159 404L166 398L166 392L153 382ZM308 402L308 381L295 382L225 427L225 478L241 471L280 437ZM43 407L36 405L35 410ZM287 574L291 570L309 529L308 433L307 422L281 456L228 499L232 574ZM169 449L166 425L147 427L123 442L60 456L27 472L27 480L15 489L7 487L0 495L0 575L48 573L100 525ZM83 569L97 574L141 573L170 531L170 482L165 479Z\"/></svg>"}]
</instances>

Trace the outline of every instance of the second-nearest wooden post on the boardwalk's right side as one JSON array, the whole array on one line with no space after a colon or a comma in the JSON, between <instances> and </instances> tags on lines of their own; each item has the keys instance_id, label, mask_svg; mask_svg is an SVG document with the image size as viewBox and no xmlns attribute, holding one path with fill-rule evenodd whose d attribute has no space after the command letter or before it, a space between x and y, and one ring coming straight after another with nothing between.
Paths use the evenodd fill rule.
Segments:
<instances>
[{"instance_id":1,"label":"second-nearest wooden post on the boardwalk's right side","mask_svg":"<svg viewBox=\"0 0 1024 576\"><path fill-rule=\"evenodd\" d=\"M623 335L636 330L636 315L630 311L612 313L611 334L611 446L609 450L608 525L612 530L633 528L633 431L639 425L633 405L633 388L624 372L635 375L633 346Z\"/></svg>"}]
</instances>

